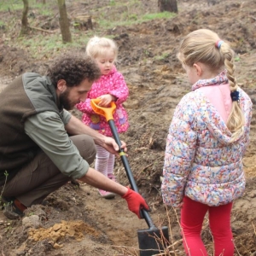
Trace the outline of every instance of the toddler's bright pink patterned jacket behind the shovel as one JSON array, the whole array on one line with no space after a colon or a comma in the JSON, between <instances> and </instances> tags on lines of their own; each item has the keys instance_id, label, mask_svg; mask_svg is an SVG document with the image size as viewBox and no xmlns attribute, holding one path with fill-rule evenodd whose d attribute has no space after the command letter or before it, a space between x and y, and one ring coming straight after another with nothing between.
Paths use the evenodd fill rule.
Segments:
<instances>
[{"instance_id":1,"label":"toddler's bright pink patterned jacket behind the shovel","mask_svg":"<svg viewBox=\"0 0 256 256\"><path fill-rule=\"evenodd\" d=\"M92 129L99 131L105 136L112 137L112 131L105 117L95 113L90 105L90 99L96 99L104 94L111 94L117 98L113 120L117 131L119 133L125 132L128 129L129 123L128 115L122 103L129 96L129 89L123 75L115 67L113 67L113 70L108 75L102 75L99 80L92 84L87 94L87 99L77 104L76 108L84 113L82 121L85 125L89 125Z\"/></svg>"}]
</instances>

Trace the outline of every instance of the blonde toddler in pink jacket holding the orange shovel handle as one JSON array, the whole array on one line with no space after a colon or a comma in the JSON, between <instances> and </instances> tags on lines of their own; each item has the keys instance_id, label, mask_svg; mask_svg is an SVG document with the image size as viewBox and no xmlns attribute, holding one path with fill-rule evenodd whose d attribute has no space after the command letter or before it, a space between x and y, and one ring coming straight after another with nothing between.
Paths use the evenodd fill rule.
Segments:
<instances>
[{"instance_id":1,"label":"blonde toddler in pink jacket holding the orange shovel handle","mask_svg":"<svg viewBox=\"0 0 256 256\"><path fill-rule=\"evenodd\" d=\"M87 98L80 102L76 107L83 112L82 121L96 131L105 136L112 137L112 131L105 117L95 113L90 105L91 99L99 98L98 103L103 108L108 108L110 102L115 102L116 109L113 113L113 120L119 133L128 129L128 116L122 103L129 96L129 89L125 79L114 66L117 61L118 47L112 39L109 38L90 38L86 46L86 54L92 57L101 70L102 76L92 84ZM105 176L115 180L113 175L114 154L109 153L105 148L96 145L96 164L97 171L102 172ZM103 198L113 198L115 195L108 191L99 189Z\"/></svg>"}]
</instances>

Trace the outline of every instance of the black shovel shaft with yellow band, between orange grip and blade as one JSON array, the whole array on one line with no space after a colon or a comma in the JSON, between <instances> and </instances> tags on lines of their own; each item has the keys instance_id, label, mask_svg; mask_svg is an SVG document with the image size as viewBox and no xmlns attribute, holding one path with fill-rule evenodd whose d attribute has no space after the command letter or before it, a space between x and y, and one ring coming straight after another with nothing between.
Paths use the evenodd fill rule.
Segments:
<instances>
[{"instance_id":1,"label":"black shovel shaft with yellow band, between orange grip and blade","mask_svg":"<svg viewBox=\"0 0 256 256\"><path fill-rule=\"evenodd\" d=\"M122 144L121 144L121 141L120 141L120 138L119 138L119 133L116 129L116 126L114 125L113 119L108 120L108 125L110 126L110 129L112 131L113 138L114 138L115 142L119 145L119 153L120 153L123 165L125 167L125 172L127 174L129 182L131 184L131 189L133 189L134 191L136 191L138 193L137 184L136 184L135 179L132 175L131 168L130 168L129 162L127 160L127 157L124 154L123 149L121 148ZM148 224L148 227L150 229L154 228L155 227L154 223L153 223L152 219L150 218L148 212L145 209L142 209L141 213L142 213L143 218L146 220L146 222Z\"/></svg>"}]
</instances>

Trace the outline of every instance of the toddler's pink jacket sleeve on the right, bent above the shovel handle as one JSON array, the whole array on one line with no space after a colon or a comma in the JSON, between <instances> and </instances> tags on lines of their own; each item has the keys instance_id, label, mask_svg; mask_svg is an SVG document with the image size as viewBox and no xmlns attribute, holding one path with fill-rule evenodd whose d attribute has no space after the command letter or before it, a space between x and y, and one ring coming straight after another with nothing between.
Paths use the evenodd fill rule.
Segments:
<instances>
[{"instance_id":1,"label":"toddler's pink jacket sleeve on the right, bent above the shovel handle","mask_svg":"<svg viewBox=\"0 0 256 256\"><path fill-rule=\"evenodd\" d=\"M117 98L117 104L121 104L125 102L129 96L128 86L125 83L124 76L119 72L114 73L113 81L113 89L109 90L108 93Z\"/></svg>"}]
</instances>

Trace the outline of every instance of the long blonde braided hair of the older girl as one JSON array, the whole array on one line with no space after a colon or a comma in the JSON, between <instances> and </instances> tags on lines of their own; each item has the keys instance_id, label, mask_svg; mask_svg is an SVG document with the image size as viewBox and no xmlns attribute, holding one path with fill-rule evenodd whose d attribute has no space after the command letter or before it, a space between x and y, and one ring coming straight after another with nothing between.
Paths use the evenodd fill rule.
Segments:
<instances>
[{"instance_id":1,"label":"long blonde braided hair of the older girl","mask_svg":"<svg viewBox=\"0 0 256 256\"><path fill-rule=\"evenodd\" d=\"M208 29L199 29L187 35L178 50L177 58L183 65L192 67L194 63L201 62L212 71L220 73L224 68L227 71L227 78L230 83L231 92L237 90L238 84L235 78L234 51L230 44L221 42L220 47L216 42L220 40L218 34ZM232 132L230 143L236 141L243 132L245 119L239 102L232 102L227 126Z\"/></svg>"}]
</instances>

